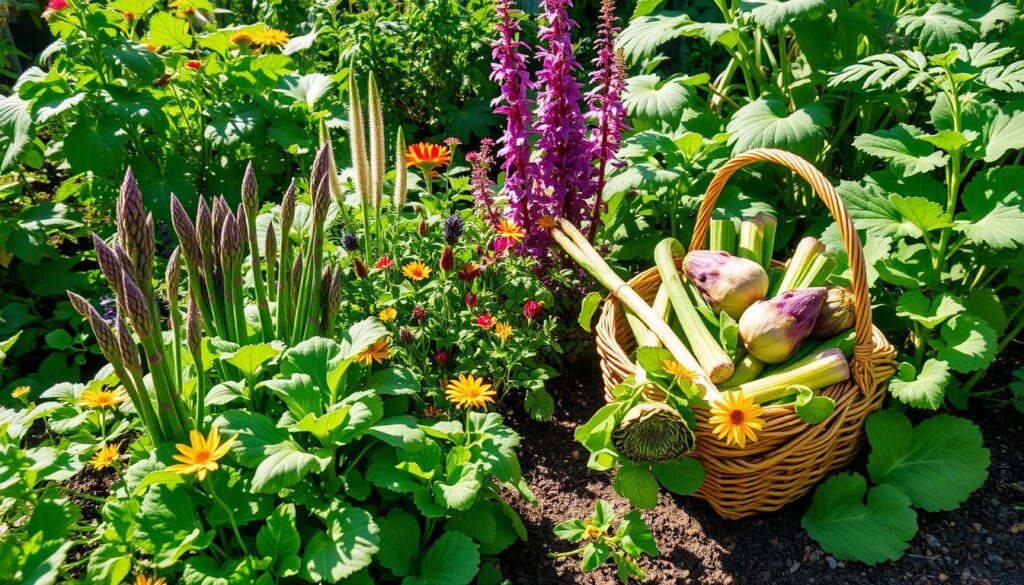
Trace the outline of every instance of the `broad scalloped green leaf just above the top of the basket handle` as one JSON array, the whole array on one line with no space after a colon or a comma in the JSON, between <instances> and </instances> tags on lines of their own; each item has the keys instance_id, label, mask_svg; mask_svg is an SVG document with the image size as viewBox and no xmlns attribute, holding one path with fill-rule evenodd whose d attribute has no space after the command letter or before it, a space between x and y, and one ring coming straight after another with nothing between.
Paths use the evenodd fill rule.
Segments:
<instances>
[{"instance_id":1,"label":"broad scalloped green leaf just above the top of the basket handle","mask_svg":"<svg viewBox=\"0 0 1024 585\"><path fill-rule=\"evenodd\" d=\"M774 148L807 154L820 145L831 124L828 109L808 103L790 112L786 99L767 95L743 106L726 126L733 154Z\"/></svg>"}]
</instances>

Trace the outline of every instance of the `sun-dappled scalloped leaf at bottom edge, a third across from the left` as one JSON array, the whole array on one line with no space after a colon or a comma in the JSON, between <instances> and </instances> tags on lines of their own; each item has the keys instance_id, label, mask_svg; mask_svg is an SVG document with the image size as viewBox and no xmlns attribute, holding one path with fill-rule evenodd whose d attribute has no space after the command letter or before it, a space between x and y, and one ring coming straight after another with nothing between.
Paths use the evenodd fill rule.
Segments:
<instances>
[{"instance_id":1,"label":"sun-dappled scalloped leaf at bottom edge, a third across from the left","mask_svg":"<svg viewBox=\"0 0 1024 585\"><path fill-rule=\"evenodd\" d=\"M335 504L327 516L327 531L313 534L302 555L314 581L337 583L366 567L380 549L380 529L370 512Z\"/></svg>"}]
</instances>

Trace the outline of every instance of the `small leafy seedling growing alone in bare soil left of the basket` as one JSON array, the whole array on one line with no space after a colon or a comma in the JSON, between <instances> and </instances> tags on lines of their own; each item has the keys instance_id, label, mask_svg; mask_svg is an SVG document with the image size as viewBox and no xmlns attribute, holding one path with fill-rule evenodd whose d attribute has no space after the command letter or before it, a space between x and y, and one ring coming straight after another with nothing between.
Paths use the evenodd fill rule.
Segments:
<instances>
[{"instance_id":1,"label":"small leafy seedling growing alone in bare soil left of the basket","mask_svg":"<svg viewBox=\"0 0 1024 585\"><path fill-rule=\"evenodd\" d=\"M624 515L617 527L616 519L614 506L605 500L595 500L594 513L589 518L573 518L555 527L558 538L586 544L566 552L552 552L548 556L580 555L580 569L585 573L594 571L610 558L615 562L615 573L621 582L628 583L631 579L643 581L646 576L637 560L642 554L658 556L662 552L639 510L631 510Z\"/></svg>"}]
</instances>

